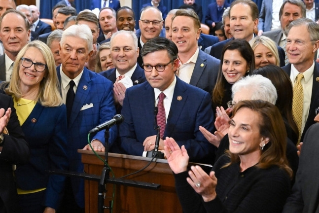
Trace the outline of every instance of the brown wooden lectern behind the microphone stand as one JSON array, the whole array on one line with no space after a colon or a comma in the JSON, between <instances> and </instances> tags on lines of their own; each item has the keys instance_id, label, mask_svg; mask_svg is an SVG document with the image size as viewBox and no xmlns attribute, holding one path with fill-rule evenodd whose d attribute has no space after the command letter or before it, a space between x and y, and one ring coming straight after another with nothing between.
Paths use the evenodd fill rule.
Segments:
<instances>
[{"instance_id":1,"label":"brown wooden lectern behind the microphone stand","mask_svg":"<svg viewBox=\"0 0 319 213\"><path fill-rule=\"evenodd\" d=\"M98 159L92 151L78 150L82 154L84 172L88 174L101 175L104 163ZM104 153L98 152L104 159ZM108 164L112 168L115 178L120 178L129 173L143 168L151 158L108 154ZM116 185L113 213L181 213L175 181L167 160L157 159L144 171L129 176L126 179L158 183L161 187L157 190L142 189L131 186ZM111 196L113 185L106 184L106 196ZM108 206L105 199L105 206ZM85 213L98 212L98 182L85 180ZM106 209L104 211L108 213Z\"/></svg>"}]
</instances>

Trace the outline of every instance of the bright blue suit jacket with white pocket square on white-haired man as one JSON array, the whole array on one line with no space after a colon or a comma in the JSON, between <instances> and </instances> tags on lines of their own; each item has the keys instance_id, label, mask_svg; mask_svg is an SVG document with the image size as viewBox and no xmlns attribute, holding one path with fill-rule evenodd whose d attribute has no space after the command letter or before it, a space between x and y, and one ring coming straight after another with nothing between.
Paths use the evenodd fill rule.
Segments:
<instances>
[{"instance_id":1,"label":"bright blue suit jacket with white pocket square on white-haired man","mask_svg":"<svg viewBox=\"0 0 319 213\"><path fill-rule=\"evenodd\" d=\"M61 80L60 66L57 67L57 73L59 80ZM88 144L88 132L115 115L112 90L113 84L110 80L84 68L75 93L68 126L67 154L71 171L83 172L81 155L77 153L77 149L81 149ZM85 105L93 106L83 109ZM109 146L115 141L116 136L117 128L113 126L110 128ZM104 131L91 135L90 140L92 139L98 139L105 143ZM84 180L71 178L71 182L75 201L79 207L84 208Z\"/></svg>"}]
</instances>

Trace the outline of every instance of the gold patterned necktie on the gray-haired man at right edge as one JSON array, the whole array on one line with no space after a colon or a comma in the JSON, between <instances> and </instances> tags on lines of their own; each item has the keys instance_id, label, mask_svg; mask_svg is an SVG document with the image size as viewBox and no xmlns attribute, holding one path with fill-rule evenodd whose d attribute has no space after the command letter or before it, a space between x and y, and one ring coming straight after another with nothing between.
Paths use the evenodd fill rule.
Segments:
<instances>
[{"instance_id":1,"label":"gold patterned necktie on the gray-haired man at right edge","mask_svg":"<svg viewBox=\"0 0 319 213\"><path fill-rule=\"evenodd\" d=\"M303 92L303 88L300 81L303 77L304 77L303 73L299 73L297 75L296 83L293 87L293 98L292 98L292 114L298 126L300 135L301 135L301 123L302 123L302 110L303 110L303 103L304 103L304 92Z\"/></svg>"}]
</instances>

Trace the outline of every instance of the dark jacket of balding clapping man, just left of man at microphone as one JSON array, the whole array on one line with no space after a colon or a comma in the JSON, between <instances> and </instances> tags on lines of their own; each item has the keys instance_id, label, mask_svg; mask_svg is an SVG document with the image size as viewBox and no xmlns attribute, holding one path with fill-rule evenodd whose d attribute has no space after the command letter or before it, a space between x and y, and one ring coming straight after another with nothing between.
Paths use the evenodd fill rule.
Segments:
<instances>
[{"instance_id":1,"label":"dark jacket of balding clapping man, just left of man at microphone","mask_svg":"<svg viewBox=\"0 0 319 213\"><path fill-rule=\"evenodd\" d=\"M100 72L99 74L103 75L108 80L115 83L115 80L116 80L115 68ZM146 81L144 70L139 65L136 67L135 71L133 72L131 79L133 81L133 85L137 85Z\"/></svg>"}]
</instances>

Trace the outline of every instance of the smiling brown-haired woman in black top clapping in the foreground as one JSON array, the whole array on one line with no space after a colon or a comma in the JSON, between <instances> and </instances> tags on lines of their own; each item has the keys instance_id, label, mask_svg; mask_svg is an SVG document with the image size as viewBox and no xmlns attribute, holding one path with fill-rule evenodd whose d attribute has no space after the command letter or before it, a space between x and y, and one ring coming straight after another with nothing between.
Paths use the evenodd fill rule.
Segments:
<instances>
[{"instance_id":1,"label":"smiling brown-haired woman in black top clapping in the foreground","mask_svg":"<svg viewBox=\"0 0 319 213\"><path fill-rule=\"evenodd\" d=\"M186 149L172 138L164 141L184 213L282 212L292 172L280 112L268 102L254 100L240 101L233 114L228 155L218 159L209 175L199 166L187 172Z\"/></svg>"}]
</instances>

